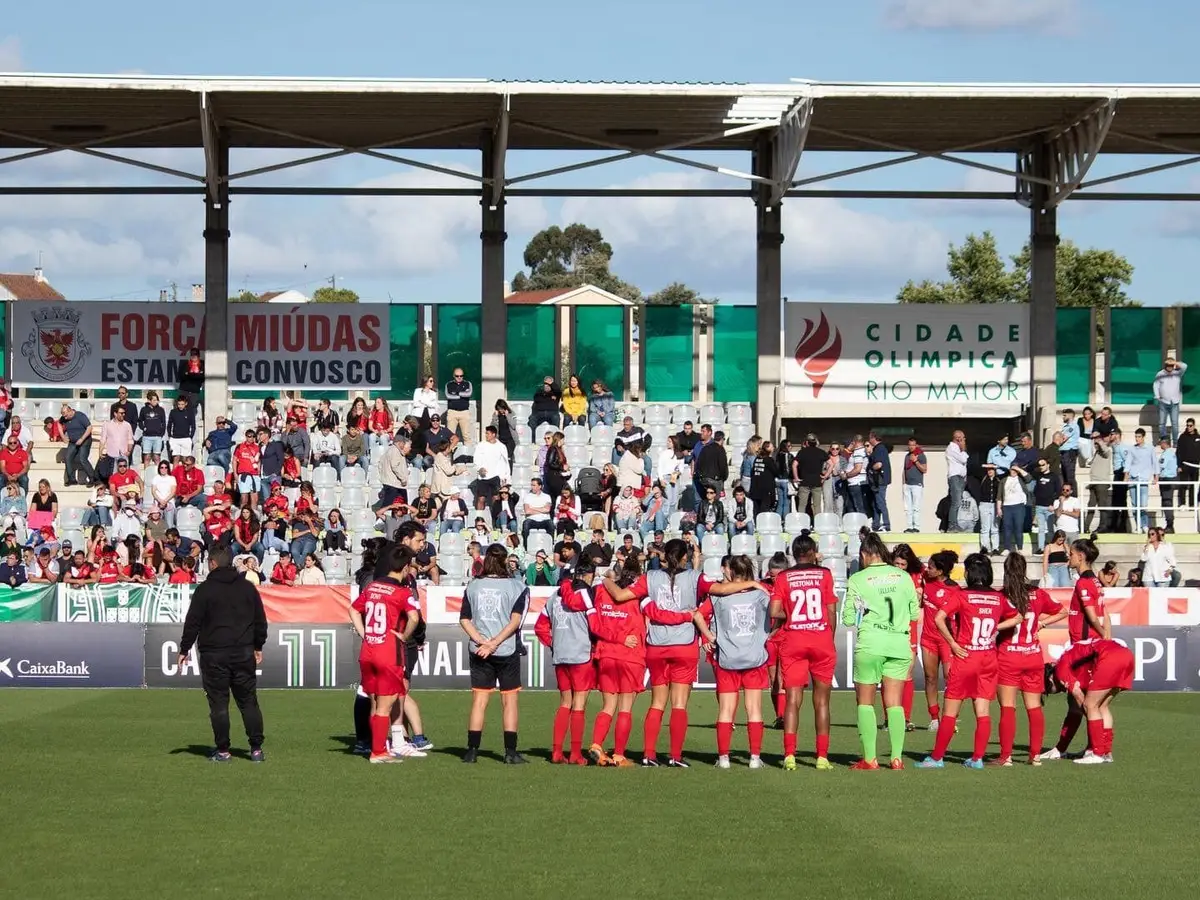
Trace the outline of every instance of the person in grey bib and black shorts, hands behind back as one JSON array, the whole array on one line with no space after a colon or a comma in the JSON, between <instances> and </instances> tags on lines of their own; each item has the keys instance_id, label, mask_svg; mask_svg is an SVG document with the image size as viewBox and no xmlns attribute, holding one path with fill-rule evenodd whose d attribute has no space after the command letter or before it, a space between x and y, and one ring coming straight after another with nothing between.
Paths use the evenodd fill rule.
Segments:
<instances>
[{"instance_id":1,"label":"person in grey bib and black shorts, hands behind back","mask_svg":"<svg viewBox=\"0 0 1200 900\"><path fill-rule=\"evenodd\" d=\"M517 752L517 692L521 690L521 620L529 604L529 588L509 575L508 551L493 544L484 553L480 577L467 584L458 624L470 638L470 718L463 762L475 762L484 737L484 718L492 691L499 688L504 722L504 762L528 762Z\"/></svg>"}]
</instances>

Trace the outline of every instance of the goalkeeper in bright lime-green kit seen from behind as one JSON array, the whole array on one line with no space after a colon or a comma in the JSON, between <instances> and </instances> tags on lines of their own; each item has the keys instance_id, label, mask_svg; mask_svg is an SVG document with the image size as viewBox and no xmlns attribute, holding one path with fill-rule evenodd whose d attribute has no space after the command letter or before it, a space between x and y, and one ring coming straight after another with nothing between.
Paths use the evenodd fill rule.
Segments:
<instances>
[{"instance_id":1,"label":"goalkeeper in bright lime-green kit seen from behind","mask_svg":"<svg viewBox=\"0 0 1200 900\"><path fill-rule=\"evenodd\" d=\"M862 569L850 576L842 622L858 626L854 642L854 696L863 758L852 769L880 768L875 757L875 690L883 683L883 707L892 740L892 768L904 768L904 683L912 664L911 629L917 628L920 600L908 572L896 569L880 535L863 535Z\"/></svg>"}]
</instances>

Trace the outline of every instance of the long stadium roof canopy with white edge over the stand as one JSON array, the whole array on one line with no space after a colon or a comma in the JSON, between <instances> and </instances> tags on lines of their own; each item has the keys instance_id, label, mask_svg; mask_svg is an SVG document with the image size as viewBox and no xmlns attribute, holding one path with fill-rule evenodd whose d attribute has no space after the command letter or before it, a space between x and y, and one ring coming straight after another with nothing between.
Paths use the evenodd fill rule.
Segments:
<instances>
[{"instance_id":1,"label":"long stadium roof canopy with white edge over the stand","mask_svg":"<svg viewBox=\"0 0 1200 900\"><path fill-rule=\"evenodd\" d=\"M772 139L770 178L737 172L674 151L754 150ZM462 193L521 190L517 185L600 164L583 161L556 169L515 174L505 155L521 150L612 151L608 160L655 156L684 166L764 182L775 197L809 184L865 170L856 167L793 180L802 154L835 151L901 154L870 163L882 168L916 158L944 158L1014 175L1012 193L1038 181L1022 164L1031 146L1052 144L1058 158L1054 194L1088 194L1086 172L1099 152L1166 154L1172 168L1200 160L1200 85L1120 84L852 84L793 80L784 84L548 83L473 79L202 78L148 76L0 76L0 148L16 162L61 150L131 162L190 179L184 191L211 190L280 167L220 173L215 148L306 149L306 161L366 152L414 164L403 150L492 148L482 175L432 168L474 181ZM205 149L205 173L185 173L120 157L120 150ZM964 161L955 154L1013 154L1016 163ZM1193 158L1195 157L1195 158ZM608 161L605 160L605 161ZM1132 174L1092 182L1117 180ZM61 193L36 186L4 188ZM119 193L98 186L97 192ZM236 188L234 188L236 191ZM242 188L250 192L251 188ZM305 193L305 188L258 188ZM131 188L132 191L132 188ZM352 188L308 192L353 193ZM137 192L170 192L139 187ZM427 188L426 193L456 193ZM602 193L564 188L562 193ZM608 193L617 193L610 191ZM623 193L629 194L630 191ZM674 193L688 193L677 191ZM713 191L694 192L710 194ZM722 193L722 192L716 192ZM724 193L748 193L726 191ZM805 191L803 193L814 193ZM835 192L829 192L835 193ZM851 196L854 192L842 192ZM932 192L857 192L862 196L924 196ZM950 192L946 196L966 196ZM978 193L971 196L980 196ZM1092 192L1093 198L1100 197ZM1195 198L1190 194L1105 194L1114 199Z\"/></svg>"}]
</instances>

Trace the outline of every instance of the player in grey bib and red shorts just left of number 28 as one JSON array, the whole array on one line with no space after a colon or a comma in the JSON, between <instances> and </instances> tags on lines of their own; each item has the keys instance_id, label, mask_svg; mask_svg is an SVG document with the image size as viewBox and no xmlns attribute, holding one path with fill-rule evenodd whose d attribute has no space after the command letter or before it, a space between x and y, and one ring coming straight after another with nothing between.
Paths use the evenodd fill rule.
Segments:
<instances>
[{"instance_id":1,"label":"player in grey bib and red shorts just left of number 28","mask_svg":"<svg viewBox=\"0 0 1200 900\"><path fill-rule=\"evenodd\" d=\"M749 557L731 557L728 566L730 581L746 584L748 589L727 595L710 593L694 613L716 674L716 768L730 768L733 716L738 712L740 691L746 706L750 768L761 769L762 692L770 686L767 677L770 598L755 581L754 563Z\"/></svg>"}]
</instances>

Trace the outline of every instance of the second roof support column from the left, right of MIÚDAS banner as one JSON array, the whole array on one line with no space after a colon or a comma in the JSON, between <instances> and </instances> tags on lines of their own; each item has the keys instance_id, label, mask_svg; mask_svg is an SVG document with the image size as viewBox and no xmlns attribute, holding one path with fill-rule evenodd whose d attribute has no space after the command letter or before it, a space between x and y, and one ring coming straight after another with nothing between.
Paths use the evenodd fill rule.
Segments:
<instances>
[{"instance_id":1,"label":"second roof support column from the left, right of MI\u00daDAS banner","mask_svg":"<svg viewBox=\"0 0 1200 900\"><path fill-rule=\"evenodd\" d=\"M484 138L484 167L481 172L496 168L494 143L491 133ZM479 403L481 428L492 418L496 401L504 396L504 353L508 343L508 317L504 308L504 197L492 198L485 192L480 200L482 210L482 230L479 239L482 242L482 284L480 300L480 338L482 342L481 370L478 374L479 390L475 400ZM449 373L446 373L449 377ZM472 373L467 373L470 378ZM482 432L480 432L482 433Z\"/></svg>"}]
</instances>

